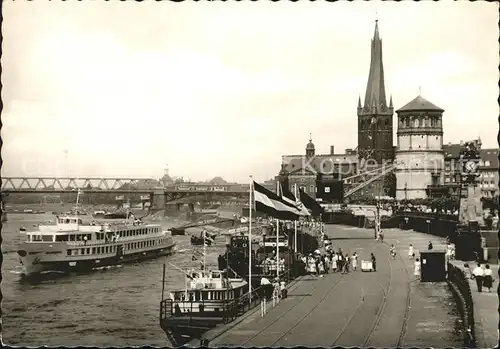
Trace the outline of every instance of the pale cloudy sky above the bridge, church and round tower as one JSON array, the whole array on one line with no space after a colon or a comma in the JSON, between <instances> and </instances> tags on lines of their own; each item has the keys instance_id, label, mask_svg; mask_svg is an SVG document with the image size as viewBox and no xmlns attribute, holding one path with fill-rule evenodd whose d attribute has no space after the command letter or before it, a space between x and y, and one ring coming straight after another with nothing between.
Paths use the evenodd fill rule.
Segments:
<instances>
[{"instance_id":1,"label":"pale cloudy sky above the bridge, church and round tower","mask_svg":"<svg viewBox=\"0 0 500 349\"><path fill-rule=\"evenodd\" d=\"M497 6L4 2L2 176L245 183L310 133L355 148L376 18L395 109L420 89L445 143L497 148Z\"/></svg>"}]
</instances>

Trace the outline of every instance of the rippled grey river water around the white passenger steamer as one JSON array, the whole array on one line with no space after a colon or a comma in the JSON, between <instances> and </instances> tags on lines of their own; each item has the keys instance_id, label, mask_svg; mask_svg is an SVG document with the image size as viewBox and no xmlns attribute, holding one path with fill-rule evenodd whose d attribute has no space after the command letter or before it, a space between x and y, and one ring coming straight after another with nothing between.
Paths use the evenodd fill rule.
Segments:
<instances>
[{"instance_id":1,"label":"rippled grey river water around the white passenger steamer","mask_svg":"<svg viewBox=\"0 0 500 349\"><path fill-rule=\"evenodd\" d=\"M54 219L52 214L9 214L2 229L3 342L16 346L166 346L159 325L164 262L180 268L192 261L189 236L174 236L178 252L156 260L126 264L86 275L28 284L20 278L19 228ZM163 227L174 222L159 221ZM207 268L216 267L225 249L217 237L207 248ZM167 263L165 290L184 287L184 277Z\"/></svg>"}]
</instances>

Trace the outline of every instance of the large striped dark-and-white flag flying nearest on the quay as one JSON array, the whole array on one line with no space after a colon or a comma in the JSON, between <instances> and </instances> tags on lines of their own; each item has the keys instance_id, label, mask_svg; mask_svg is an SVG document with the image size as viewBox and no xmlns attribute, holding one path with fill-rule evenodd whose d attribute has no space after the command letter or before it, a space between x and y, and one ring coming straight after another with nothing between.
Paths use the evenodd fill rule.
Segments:
<instances>
[{"instance_id":1,"label":"large striped dark-and-white flag flying nearest on the quay","mask_svg":"<svg viewBox=\"0 0 500 349\"><path fill-rule=\"evenodd\" d=\"M295 221L299 219L298 211L294 204L288 203L256 182L253 182L253 194L256 211L282 220Z\"/></svg>"}]
</instances>

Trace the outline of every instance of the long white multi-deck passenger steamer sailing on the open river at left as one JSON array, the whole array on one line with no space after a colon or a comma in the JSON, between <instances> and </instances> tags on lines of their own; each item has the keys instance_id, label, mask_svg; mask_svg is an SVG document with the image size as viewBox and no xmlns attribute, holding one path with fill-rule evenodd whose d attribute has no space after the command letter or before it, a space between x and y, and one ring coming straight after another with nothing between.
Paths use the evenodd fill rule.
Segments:
<instances>
[{"instance_id":1,"label":"long white multi-deck passenger steamer sailing on the open river at left","mask_svg":"<svg viewBox=\"0 0 500 349\"><path fill-rule=\"evenodd\" d=\"M78 198L77 198L78 204ZM169 231L141 220L88 222L76 215L57 216L56 224L37 231L21 228L17 254L25 276L46 272L88 271L156 258L175 252Z\"/></svg>"}]
</instances>

